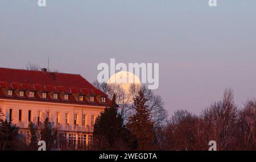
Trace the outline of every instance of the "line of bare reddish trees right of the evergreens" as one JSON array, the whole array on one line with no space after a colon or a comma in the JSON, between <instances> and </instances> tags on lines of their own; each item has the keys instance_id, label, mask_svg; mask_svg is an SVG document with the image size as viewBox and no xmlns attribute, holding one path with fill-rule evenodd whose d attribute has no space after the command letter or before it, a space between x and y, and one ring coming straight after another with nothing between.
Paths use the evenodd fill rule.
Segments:
<instances>
[{"instance_id":1,"label":"line of bare reddish trees right of the evergreens","mask_svg":"<svg viewBox=\"0 0 256 162\"><path fill-rule=\"evenodd\" d=\"M164 150L208 150L215 140L217 150L256 150L256 100L242 109L234 103L231 89L221 101L214 102L200 115L176 111L158 131L158 146Z\"/></svg>"}]
</instances>

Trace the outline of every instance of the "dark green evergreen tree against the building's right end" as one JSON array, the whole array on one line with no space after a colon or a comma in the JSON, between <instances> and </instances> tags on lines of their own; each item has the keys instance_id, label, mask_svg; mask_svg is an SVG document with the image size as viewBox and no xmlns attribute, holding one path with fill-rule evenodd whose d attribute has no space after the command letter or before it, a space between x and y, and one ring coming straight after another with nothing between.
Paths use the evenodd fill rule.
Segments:
<instances>
[{"instance_id":1,"label":"dark green evergreen tree against the building's right end","mask_svg":"<svg viewBox=\"0 0 256 162\"><path fill-rule=\"evenodd\" d=\"M117 112L114 95L112 105L106 107L96 118L93 131L94 149L126 149L125 142L123 141L124 132L123 119Z\"/></svg>"}]
</instances>

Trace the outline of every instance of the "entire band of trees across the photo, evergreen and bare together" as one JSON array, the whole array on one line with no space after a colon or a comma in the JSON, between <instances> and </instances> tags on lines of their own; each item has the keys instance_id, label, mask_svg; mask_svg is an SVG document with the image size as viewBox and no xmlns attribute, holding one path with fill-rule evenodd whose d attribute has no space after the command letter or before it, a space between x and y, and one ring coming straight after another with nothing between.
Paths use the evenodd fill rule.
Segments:
<instances>
[{"instance_id":1,"label":"entire band of trees across the photo, evergreen and bare together","mask_svg":"<svg viewBox=\"0 0 256 162\"><path fill-rule=\"evenodd\" d=\"M18 127L3 120L0 109L0 150L37 150L39 140L46 141L47 150L208 150L210 140L220 151L256 150L256 99L241 108L226 89L220 101L199 115L177 110L167 119L162 98L145 87L131 86L127 97L119 87L100 86L112 96L112 105L96 118L90 146L68 142L48 118L30 123L27 143Z\"/></svg>"}]
</instances>

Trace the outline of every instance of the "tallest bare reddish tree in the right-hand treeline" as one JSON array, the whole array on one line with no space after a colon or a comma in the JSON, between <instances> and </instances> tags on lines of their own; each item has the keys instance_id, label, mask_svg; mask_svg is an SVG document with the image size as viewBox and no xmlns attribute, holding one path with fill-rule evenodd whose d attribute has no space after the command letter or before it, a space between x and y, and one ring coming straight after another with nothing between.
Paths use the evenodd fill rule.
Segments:
<instances>
[{"instance_id":1,"label":"tallest bare reddish tree in the right-hand treeline","mask_svg":"<svg viewBox=\"0 0 256 162\"><path fill-rule=\"evenodd\" d=\"M234 103L233 90L226 89L222 101L214 102L201 114L204 141L217 142L218 150L234 149L237 128L237 105Z\"/></svg>"}]
</instances>

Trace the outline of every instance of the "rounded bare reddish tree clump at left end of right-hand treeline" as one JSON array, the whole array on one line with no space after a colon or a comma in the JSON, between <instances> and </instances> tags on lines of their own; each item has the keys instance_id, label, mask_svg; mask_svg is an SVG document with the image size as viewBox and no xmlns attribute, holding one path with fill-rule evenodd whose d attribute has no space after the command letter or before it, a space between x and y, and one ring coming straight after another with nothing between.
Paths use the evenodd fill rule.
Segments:
<instances>
[{"instance_id":1,"label":"rounded bare reddish tree clump at left end of right-hand treeline","mask_svg":"<svg viewBox=\"0 0 256 162\"><path fill-rule=\"evenodd\" d=\"M177 110L158 131L158 146L163 150L196 150L195 128L199 118L187 110Z\"/></svg>"}]
</instances>

